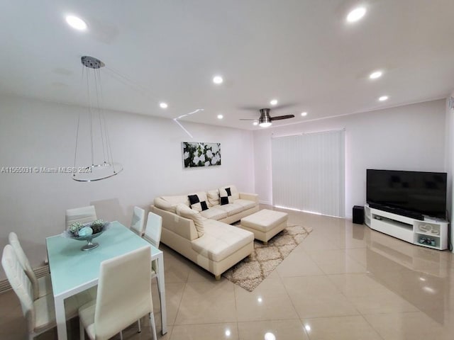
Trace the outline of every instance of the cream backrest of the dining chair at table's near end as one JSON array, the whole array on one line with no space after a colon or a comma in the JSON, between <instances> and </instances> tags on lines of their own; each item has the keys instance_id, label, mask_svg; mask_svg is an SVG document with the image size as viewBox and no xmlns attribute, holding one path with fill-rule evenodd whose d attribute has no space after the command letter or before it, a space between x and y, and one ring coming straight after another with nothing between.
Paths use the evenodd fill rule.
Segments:
<instances>
[{"instance_id":1,"label":"cream backrest of the dining chair at table's near end","mask_svg":"<svg viewBox=\"0 0 454 340\"><path fill-rule=\"evenodd\" d=\"M109 339L153 312L150 263L150 246L101 262L94 311L96 339Z\"/></svg>"}]
</instances>

